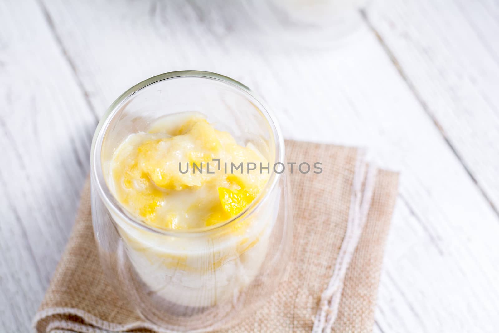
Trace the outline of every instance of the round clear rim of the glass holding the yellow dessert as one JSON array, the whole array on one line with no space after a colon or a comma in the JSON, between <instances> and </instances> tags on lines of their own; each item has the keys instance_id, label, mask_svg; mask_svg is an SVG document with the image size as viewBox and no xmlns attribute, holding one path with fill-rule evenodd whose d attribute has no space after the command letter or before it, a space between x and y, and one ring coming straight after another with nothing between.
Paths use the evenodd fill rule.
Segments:
<instances>
[{"instance_id":1,"label":"round clear rim of the glass holding the yellow dessert","mask_svg":"<svg viewBox=\"0 0 499 333\"><path fill-rule=\"evenodd\" d=\"M114 100L114 102L112 102L111 105L107 108L106 112L100 119L97 128L95 129L95 133L92 139L92 146L90 148L91 187L94 187L94 185L96 185L96 188L95 189L92 188L91 191L96 190L98 192L98 195L104 202L106 208L108 210L112 210L112 212L116 214L120 219L126 221L132 226L138 227L148 232L152 232L155 234L162 234L166 236L195 237L218 231L219 229L228 226L230 224L233 224L238 220L241 220L242 218L248 218L270 196L270 193L272 192L273 188L276 186L279 178L281 177L281 174L284 172L277 173L273 170L273 168L271 168L272 170L270 172L270 177L267 180L265 187L258 194L258 196L241 213L223 223L215 224L212 226L206 226L202 228L174 230L174 229L156 228L146 224L144 221L140 219L133 217L131 213L129 213L125 209L125 207L123 207L123 205L121 205L119 201L114 197L114 195L111 193L111 190L109 189L107 182L104 179L102 171L102 161L101 161L103 138L107 132L110 121L113 119L113 116L116 114L116 111L119 109L120 106L126 103L132 95L137 93L139 90L144 89L147 86L154 84L156 82L173 78L179 78L179 77L199 77L199 78L217 80L219 82L230 85L236 89L239 89L246 95L249 95L254 101L256 101L257 105L255 106L264 116L265 120L267 121L267 124L271 128L273 141L275 144L274 165L277 163L284 164L284 139L282 137L279 125L275 121L275 116L273 115L272 111L270 111L269 107L266 105L266 103L263 101L261 97L259 97L256 93L254 93L249 87L247 87L243 83L235 79L232 79L228 76L207 71L180 70L180 71L158 74L135 84L134 86L126 90L124 93L122 93L118 98L116 98L116 100Z\"/></svg>"}]
</instances>

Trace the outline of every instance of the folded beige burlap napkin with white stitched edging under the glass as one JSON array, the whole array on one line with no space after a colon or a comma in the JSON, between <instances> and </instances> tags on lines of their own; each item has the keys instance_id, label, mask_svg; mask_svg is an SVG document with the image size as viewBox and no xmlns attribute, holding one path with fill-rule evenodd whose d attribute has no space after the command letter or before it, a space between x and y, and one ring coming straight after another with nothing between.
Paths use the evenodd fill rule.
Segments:
<instances>
[{"instance_id":1,"label":"folded beige burlap napkin with white stitched edging under the glass","mask_svg":"<svg viewBox=\"0 0 499 333\"><path fill-rule=\"evenodd\" d=\"M290 175L294 243L287 273L260 310L224 332L371 332L398 175L369 166L356 148L287 141L286 157L321 162L323 172ZM38 332L169 332L142 319L104 276L88 182L33 325Z\"/></svg>"}]
</instances>

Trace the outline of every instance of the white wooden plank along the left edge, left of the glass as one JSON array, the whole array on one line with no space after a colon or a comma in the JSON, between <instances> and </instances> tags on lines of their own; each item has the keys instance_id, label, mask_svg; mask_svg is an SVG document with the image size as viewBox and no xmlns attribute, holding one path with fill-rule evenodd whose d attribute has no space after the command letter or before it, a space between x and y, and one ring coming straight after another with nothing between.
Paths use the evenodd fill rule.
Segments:
<instances>
[{"instance_id":1,"label":"white wooden plank along the left edge, left of the glass","mask_svg":"<svg viewBox=\"0 0 499 333\"><path fill-rule=\"evenodd\" d=\"M0 1L0 327L29 332L71 229L96 119L34 1Z\"/></svg>"}]
</instances>

